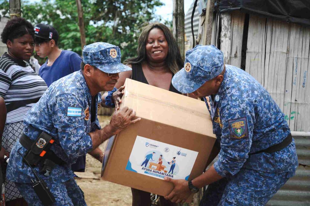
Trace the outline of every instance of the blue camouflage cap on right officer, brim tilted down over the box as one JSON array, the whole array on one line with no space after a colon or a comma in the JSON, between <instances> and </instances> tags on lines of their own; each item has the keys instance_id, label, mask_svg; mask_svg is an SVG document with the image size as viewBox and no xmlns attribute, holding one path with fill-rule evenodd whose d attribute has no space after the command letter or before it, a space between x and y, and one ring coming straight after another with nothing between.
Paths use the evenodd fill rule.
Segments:
<instances>
[{"instance_id":1,"label":"blue camouflage cap on right officer, brim tilted down over the box","mask_svg":"<svg viewBox=\"0 0 310 206\"><path fill-rule=\"evenodd\" d=\"M224 69L224 55L214 45L197 45L185 55L184 68L172 78L172 85L182 93L192 93Z\"/></svg>"}]
</instances>

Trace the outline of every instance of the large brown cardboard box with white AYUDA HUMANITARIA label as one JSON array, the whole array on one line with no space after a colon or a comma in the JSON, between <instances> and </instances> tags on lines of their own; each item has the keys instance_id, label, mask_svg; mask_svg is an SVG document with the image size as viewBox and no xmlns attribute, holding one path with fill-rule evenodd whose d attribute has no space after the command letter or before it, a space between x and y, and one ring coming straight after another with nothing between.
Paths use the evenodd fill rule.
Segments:
<instances>
[{"instance_id":1,"label":"large brown cardboard box with white AYUDA HUMANITARIA label","mask_svg":"<svg viewBox=\"0 0 310 206\"><path fill-rule=\"evenodd\" d=\"M164 176L202 174L216 139L203 101L126 79L125 106L141 120L109 139L101 179L166 196L174 186Z\"/></svg>"}]
</instances>

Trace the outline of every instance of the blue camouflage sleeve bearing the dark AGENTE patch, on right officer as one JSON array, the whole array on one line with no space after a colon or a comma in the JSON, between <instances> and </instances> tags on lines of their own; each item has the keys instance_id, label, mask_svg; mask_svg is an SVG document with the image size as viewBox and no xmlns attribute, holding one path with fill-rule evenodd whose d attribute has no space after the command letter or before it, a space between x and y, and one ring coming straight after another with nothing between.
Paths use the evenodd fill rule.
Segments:
<instances>
[{"instance_id":1,"label":"blue camouflage sleeve bearing the dark AGENTE patch, on right officer","mask_svg":"<svg viewBox=\"0 0 310 206\"><path fill-rule=\"evenodd\" d=\"M255 125L254 106L240 103L220 111L223 124L219 159L214 163L221 176L239 172L250 152L253 127Z\"/></svg>"}]
</instances>

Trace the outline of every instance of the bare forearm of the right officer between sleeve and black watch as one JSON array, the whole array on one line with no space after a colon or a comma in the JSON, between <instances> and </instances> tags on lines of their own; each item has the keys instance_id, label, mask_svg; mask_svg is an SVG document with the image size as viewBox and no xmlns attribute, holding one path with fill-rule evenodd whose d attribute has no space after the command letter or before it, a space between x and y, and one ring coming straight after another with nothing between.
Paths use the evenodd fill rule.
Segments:
<instances>
[{"instance_id":1,"label":"bare forearm of the right officer between sleeve and black watch","mask_svg":"<svg viewBox=\"0 0 310 206\"><path fill-rule=\"evenodd\" d=\"M205 173L193 179L192 183L193 186L201 188L222 178L223 177L216 172L214 166L212 165Z\"/></svg>"}]
</instances>

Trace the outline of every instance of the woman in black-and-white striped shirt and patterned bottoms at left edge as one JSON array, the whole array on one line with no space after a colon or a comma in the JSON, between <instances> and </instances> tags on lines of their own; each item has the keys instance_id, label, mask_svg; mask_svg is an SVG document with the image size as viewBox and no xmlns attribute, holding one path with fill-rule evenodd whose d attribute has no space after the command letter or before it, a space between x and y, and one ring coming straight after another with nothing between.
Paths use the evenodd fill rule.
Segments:
<instances>
[{"instance_id":1,"label":"woman in black-and-white striped shirt and patterned bottoms at left edge","mask_svg":"<svg viewBox=\"0 0 310 206\"><path fill-rule=\"evenodd\" d=\"M2 147L8 153L23 131L24 115L47 90L44 80L27 62L33 53L33 38L33 26L20 17L8 21L1 34L2 42L7 44L7 53L0 57L0 96L7 108ZM0 114L0 118L4 115ZM4 183L6 205L24 205L14 183L7 180Z\"/></svg>"}]
</instances>

